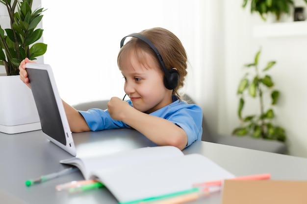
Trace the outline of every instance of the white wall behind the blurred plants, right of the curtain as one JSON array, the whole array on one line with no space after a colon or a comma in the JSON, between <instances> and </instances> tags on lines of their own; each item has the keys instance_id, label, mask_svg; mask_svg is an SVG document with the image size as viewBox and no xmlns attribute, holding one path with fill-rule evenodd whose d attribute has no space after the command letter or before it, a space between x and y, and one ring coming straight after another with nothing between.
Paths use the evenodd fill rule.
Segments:
<instances>
[{"instance_id":1,"label":"white wall behind the blurred plants, right of the curtain","mask_svg":"<svg viewBox=\"0 0 307 204\"><path fill-rule=\"evenodd\" d=\"M277 61L269 72L276 89L281 91L280 103L275 108L276 124L286 130L290 155L307 157L307 35L255 38L253 27L259 23L258 16L252 16L249 8L242 9L242 0L223 1L225 79L221 83L224 83L225 92L220 94L218 132L229 134L239 125L236 89L244 73L242 66L253 62L261 46L261 68L270 60Z\"/></svg>"}]
</instances>

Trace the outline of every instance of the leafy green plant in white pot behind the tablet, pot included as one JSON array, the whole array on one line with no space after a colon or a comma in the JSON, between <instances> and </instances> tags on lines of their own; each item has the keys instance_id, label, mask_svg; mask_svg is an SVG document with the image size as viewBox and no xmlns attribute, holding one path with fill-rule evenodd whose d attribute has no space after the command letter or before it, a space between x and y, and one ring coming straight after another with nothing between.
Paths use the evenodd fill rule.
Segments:
<instances>
[{"instance_id":1,"label":"leafy green plant in white pot behind the tablet, pot included","mask_svg":"<svg viewBox=\"0 0 307 204\"><path fill-rule=\"evenodd\" d=\"M0 0L9 17L9 22L0 22L0 65L7 75L0 76L0 132L9 134L41 128L32 93L18 75L23 59L35 60L47 50L46 44L35 43L43 34L43 29L36 29L43 8L32 11L32 1Z\"/></svg>"}]
</instances>

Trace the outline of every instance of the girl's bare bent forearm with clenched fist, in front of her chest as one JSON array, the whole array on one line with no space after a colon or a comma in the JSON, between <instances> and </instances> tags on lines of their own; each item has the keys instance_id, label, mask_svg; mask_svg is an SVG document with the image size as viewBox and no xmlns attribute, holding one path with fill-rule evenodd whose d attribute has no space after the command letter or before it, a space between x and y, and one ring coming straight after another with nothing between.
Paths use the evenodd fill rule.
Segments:
<instances>
[{"instance_id":1,"label":"girl's bare bent forearm with clenched fist, in front of her chest","mask_svg":"<svg viewBox=\"0 0 307 204\"><path fill-rule=\"evenodd\" d=\"M120 98L111 98L108 111L113 119L125 122L157 145L171 145L180 150L187 145L187 135L182 128L164 118L142 113Z\"/></svg>"}]
</instances>

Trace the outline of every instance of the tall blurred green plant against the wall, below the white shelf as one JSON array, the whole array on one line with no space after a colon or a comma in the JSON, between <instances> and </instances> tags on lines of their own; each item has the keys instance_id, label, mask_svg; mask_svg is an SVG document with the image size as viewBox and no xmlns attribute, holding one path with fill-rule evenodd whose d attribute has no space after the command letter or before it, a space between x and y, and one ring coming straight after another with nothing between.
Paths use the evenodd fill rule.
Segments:
<instances>
[{"instance_id":1,"label":"tall blurred green plant against the wall, below the white shelf","mask_svg":"<svg viewBox=\"0 0 307 204\"><path fill-rule=\"evenodd\" d=\"M270 61L266 67L262 69L262 75L260 75L258 69L258 59L260 55L259 50L256 53L255 60L251 64L245 65L247 72L241 79L237 94L239 96L238 117L241 120L241 125L235 128L232 135L245 136L249 135L255 138L264 138L271 140L279 140L285 142L286 135L282 127L273 124L275 113L273 106L277 104L280 92L273 89L274 82L272 77L267 73L276 62ZM251 70L251 68L254 68ZM251 74L252 72L252 74ZM264 94L270 94L271 107L265 110L264 107ZM245 105L246 97L258 98L259 100L259 114L251 114L247 116L242 115L242 111Z\"/></svg>"}]
</instances>

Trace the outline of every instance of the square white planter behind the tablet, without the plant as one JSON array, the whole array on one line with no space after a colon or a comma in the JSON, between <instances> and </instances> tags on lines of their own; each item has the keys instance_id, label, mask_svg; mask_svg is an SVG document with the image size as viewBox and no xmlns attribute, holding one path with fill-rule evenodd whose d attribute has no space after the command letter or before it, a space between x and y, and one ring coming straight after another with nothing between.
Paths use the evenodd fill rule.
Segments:
<instances>
[{"instance_id":1,"label":"square white planter behind the tablet, without the plant","mask_svg":"<svg viewBox=\"0 0 307 204\"><path fill-rule=\"evenodd\" d=\"M17 76L0 76L0 132L40 130L32 91Z\"/></svg>"}]
</instances>

